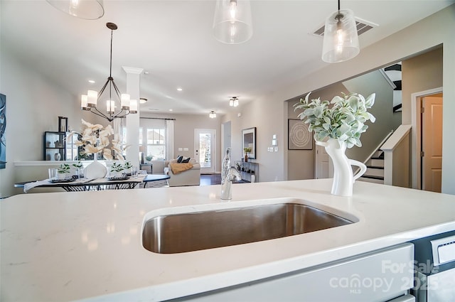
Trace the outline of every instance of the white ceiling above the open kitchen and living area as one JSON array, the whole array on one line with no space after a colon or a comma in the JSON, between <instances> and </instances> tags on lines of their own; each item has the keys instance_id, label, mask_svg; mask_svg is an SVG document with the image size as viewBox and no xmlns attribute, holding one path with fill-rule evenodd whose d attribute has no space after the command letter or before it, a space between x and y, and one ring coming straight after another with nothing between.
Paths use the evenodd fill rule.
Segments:
<instances>
[{"instance_id":1,"label":"white ceiling above the open kitchen and living area","mask_svg":"<svg viewBox=\"0 0 455 302\"><path fill-rule=\"evenodd\" d=\"M364 48L452 3L346 0L341 9L378 24L359 37ZM104 0L105 15L95 21L64 14L45 0L1 0L0 5L1 47L14 50L75 98L100 90L107 80L110 31L105 23L113 22L119 29L112 76L119 89L126 90L122 66L148 72L141 75L141 97L149 99L141 111L223 114L232 110L231 96L239 96L242 104L325 66L322 38L311 33L336 10L337 1L252 0L253 36L239 45L213 38L215 0Z\"/></svg>"}]
</instances>

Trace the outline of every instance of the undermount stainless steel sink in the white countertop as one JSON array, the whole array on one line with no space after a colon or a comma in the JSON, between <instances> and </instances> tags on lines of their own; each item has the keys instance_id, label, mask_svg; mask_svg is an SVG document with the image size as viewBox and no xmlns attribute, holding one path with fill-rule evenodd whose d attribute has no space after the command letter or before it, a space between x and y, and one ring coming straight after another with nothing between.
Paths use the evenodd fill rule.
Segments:
<instances>
[{"instance_id":1,"label":"undermount stainless steel sink in the white countertop","mask_svg":"<svg viewBox=\"0 0 455 302\"><path fill-rule=\"evenodd\" d=\"M353 221L309 205L278 203L159 215L144 222L142 245L174 254L287 237Z\"/></svg>"}]
</instances>

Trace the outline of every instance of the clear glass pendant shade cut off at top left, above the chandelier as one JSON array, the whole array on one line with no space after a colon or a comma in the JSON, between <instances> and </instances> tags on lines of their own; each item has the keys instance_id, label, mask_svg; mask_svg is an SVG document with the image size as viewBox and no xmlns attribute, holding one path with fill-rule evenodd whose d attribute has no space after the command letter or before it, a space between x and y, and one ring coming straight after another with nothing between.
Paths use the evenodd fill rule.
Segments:
<instances>
[{"instance_id":1,"label":"clear glass pendant shade cut off at top left, above the chandelier","mask_svg":"<svg viewBox=\"0 0 455 302\"><path fill-rule=\"evenodd\" d=\"M102 0L46 0L64 13L77 18L95 20L105 14Z\"/></svg>"}]
</instances>

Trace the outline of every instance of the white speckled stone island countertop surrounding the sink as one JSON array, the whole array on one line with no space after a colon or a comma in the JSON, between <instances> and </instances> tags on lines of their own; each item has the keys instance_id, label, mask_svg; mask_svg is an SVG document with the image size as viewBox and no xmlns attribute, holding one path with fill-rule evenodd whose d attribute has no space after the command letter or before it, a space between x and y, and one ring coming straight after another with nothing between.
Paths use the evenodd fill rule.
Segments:
<instances>
[{"instance_id":1,"label":"white speckled stone island countertop surrounding the sink","mask_svg":"<svg viewBox=\"0 0 455 302\"><path fill-rule=\"evenodd\" d=\"M163 301L307 269L455 230L455 196L331 180L15 195L1 201L1 301ZM355 222L230 247L156 254L144 217L181 207L304 200ZM249 201L250 200L250 201Z\"/></svg>"}]
</instances>

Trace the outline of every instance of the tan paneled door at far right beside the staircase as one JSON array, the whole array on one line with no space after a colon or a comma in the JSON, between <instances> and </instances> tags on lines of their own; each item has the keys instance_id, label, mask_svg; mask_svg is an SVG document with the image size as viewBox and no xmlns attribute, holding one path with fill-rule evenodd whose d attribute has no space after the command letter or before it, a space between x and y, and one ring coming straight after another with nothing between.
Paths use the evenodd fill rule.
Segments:
<instances>
[{"instance_id":1,"label":"tan paneled door at far right beside the staircase","mask_svg":"<svg viewBox=\"0 0 455 302\"><path fill-rule=\"evenodd\" d=\"M442 97L422 99L422 190L441 192Z\"/></svg>"}]
</instances>

